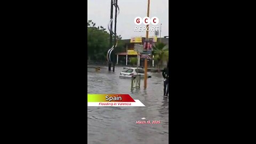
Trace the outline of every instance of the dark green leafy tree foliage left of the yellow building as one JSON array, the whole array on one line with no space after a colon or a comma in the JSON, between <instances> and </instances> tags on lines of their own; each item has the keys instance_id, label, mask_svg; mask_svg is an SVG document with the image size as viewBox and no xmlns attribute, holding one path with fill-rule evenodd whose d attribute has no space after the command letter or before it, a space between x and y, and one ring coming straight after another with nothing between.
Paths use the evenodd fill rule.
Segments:
<instances>
[{"instance_id":1,"label":"dark green leafy tree foliage left of the yellow building","mask_svg":"<svg viewBox=\"0 0 256 144\"><path fill-rule=\"evenodd\" d=\"M106 61L107 52L110 49L109 33L102 26L96 27L96 23L89 20L87 22L87 54L89 60ZM120 42L122 37L117 36L118 45L116 52L122 52L124 44ZM113 42L114 44L114 37Z\"/></svg>"}]
</instances>

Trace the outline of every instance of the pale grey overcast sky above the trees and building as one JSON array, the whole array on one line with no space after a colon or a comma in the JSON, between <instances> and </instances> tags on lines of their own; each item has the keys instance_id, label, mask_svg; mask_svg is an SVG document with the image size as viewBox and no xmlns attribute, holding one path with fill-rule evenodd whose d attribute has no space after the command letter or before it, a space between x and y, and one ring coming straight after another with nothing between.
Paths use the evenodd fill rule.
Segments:
<instances>
[{"instance_id":1,"label":"pale grey overcast sky above the trees and building","mask_svg":"<svg viewBox=\"0 0 256 144\"><path fill-rule=\"evenodd\" d=\"M103 26L108 30L110 2L110 0L88 0L87 20L92 20L96 23L96 26ZM117 4L119 6L120 13L117 15L116 33L121 35L123 39L130 39L135 36L146 36L146 31L134 31L134 27L138 27L138 25L135 25L134 23L134 18L144 18L147 16L147 2L148 0L118 0ZM113 18L115 18L115 7L113 10ZM149 18L157 17L159 19L159 23L156 26L159 28L162 23L162 37L169 36L168 12L168 0L150 0ZM145 25L142 23L139 26ZM151 26L153 25L150 23L149 27ZM149 36L154 36L154 33L149 31Z\"/></svg>"}]
</instances>

